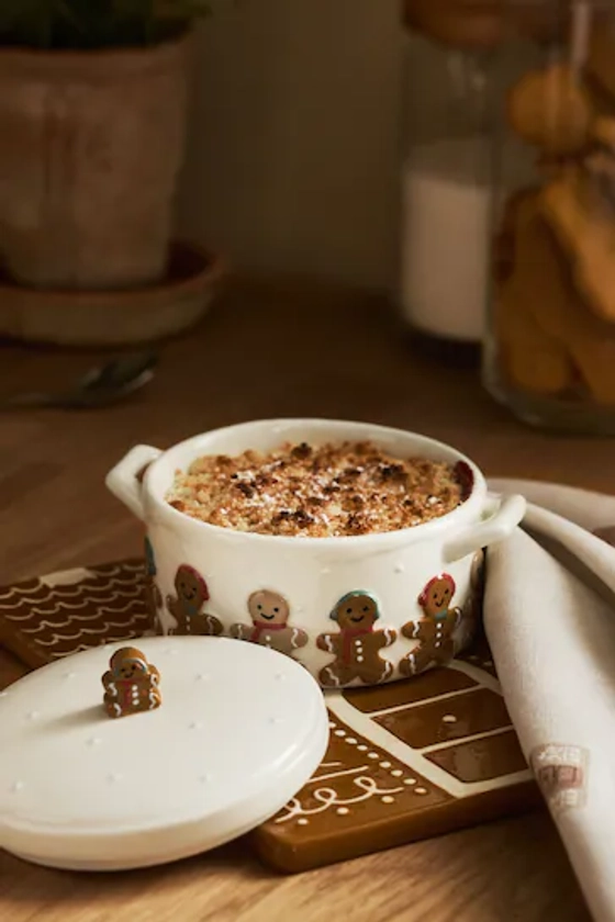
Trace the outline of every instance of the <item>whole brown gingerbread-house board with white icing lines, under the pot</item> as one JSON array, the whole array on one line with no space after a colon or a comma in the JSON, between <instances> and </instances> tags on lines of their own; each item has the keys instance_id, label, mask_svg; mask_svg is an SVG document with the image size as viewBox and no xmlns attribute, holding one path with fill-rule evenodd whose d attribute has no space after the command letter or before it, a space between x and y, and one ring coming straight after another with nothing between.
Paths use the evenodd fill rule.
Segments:
<instances>
[{"instance_id":1,"label":"whole brown gingerbread-house board with white icing lines, under the pot","mask_svg":"<svg viewBox=\"0 0 615 922\"><path fill-rule=\"evenodd\" d=\"M32 668L150 632L141 560L0 588L0 643ZM326 699L331 741L320 768L251 836L278 870L333 864L540 800L484 638L445 668Z\"/></svg>"}]
</instances>

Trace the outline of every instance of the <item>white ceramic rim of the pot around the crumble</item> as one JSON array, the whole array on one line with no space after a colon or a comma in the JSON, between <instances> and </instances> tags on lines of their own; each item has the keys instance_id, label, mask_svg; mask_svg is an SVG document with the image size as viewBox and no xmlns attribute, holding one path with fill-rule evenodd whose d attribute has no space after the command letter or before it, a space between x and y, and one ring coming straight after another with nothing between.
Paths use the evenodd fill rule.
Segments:
<instances>
[{"instance_id":1,"label":"white ceramic rim of the pot around the crumble","mask_svg":"<svg viewBox=\"0 0 615 922\"><path fill-rule=\"evenodd\" d=\"M191 460L215 452L215 442L231 432L242 435L245 432L245 449L254 448L250 443L250 434L260 431L262 429L279 430L280 443L286 438L301 437L301 429L310 428L321 429L323 440L358 440L369 439L376 445L382 445L387 448L387 442L399 442L400 440L407 443L406 457L415 456L429 458L436 461L445 461L449 464L457 464L458 462L466 463L472 472L473 484L470 495L463 503L452 511L444 516L432 519L423 525L411 526L410 528L400 528L395 531L383 531L368 535L353 535L339 536L333 538L317 538L309 536L286 536L286 535L260 535L254 531L238 531L231 528L224 528L219 525L211 525L210 522L195 519L192 516L186 515L175 509L165 499L165 494L169 490L171 483L168 482L167 466L172 464L172 457L186 452L190 447L193 447L191 452ZM278 432L276 432L278 434ZM305 436L305 438L313 440L313 436ZM209 443L212 443L211 446ZM224 453L221 449L220 453ZM405 452L404 452L405 454ZM182 465L174 464L174 471ZM163 483L165 477L165 483ZM210 536L215 536L219 539L226 541L260 541L261 543L273 543L280 549L284 546L292 548L310 548L312 551L316 549L358 549L359 547L368 550L370 546L373 550L385 550L388 547L401 543L413 543L415 541L423 541L424 539L437 538L443 532L449 531L450 528L458 526L462 527L480 519L484 513L488 488L484 475L480 468L466 454L458 451L452 446L446 442L440 442L437 439L432 439L428 436L422 436L417 432L411 432L406 429L396 429L390 426L380 426L372 423L353 421L342 419L326 419L326 418L279 418L279 419L257 419L249 423L239 423L233 426L224 426L219 429L211 429L198 436L192 436L181 442L177 442L171 448L163 451L156 460L148 465L142 482L142 491L146 495L146 502L152 504L152 508L147 509L146 519L149 519L154 510L154 518L164 524L172 526L174 529L191 529L194 537L198 533L204 535L209 532Z\"/></svg>"}]
</instances>

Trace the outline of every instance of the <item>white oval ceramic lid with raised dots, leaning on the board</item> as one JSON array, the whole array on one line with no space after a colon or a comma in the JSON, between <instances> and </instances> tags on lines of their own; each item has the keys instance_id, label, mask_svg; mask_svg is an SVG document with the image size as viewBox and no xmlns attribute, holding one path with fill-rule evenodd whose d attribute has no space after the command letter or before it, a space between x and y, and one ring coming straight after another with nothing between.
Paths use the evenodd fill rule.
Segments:
<instances>
[{"instance_id":1,"label":"white oval ceramic lid with raised dots, leaning on the board","mask_svg":"<svg viewBox=\"0 0 615 922\"><path fill-rule=\"evenodd\" d=\"M70 869L161 864L259 825L315 771L328 719L301 665L222 638L137 645L147 670L107 675L109 712L101 678L125 643L0 692L0 847Z\"/></svg>"}]
</instances>

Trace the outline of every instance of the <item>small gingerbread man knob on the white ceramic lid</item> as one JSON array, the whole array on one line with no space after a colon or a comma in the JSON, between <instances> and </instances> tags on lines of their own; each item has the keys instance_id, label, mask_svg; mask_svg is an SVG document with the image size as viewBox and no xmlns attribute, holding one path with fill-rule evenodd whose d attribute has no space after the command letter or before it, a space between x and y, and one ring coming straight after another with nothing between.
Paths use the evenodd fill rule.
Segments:
<instances>
[{"instance_id":1,"label":"small gingerbread man knob on the white ceramic lid","mask_svg":"<svg viewBox=\"0 0 615 922\"><path fill-rule=\"evenodd\" d=\"M141 650L122 646L109 661L109 671L102 676L104 709L109 717L155 710L163 699L159 689L160 674L147 662Z\"/></svg>"}]
</instances>

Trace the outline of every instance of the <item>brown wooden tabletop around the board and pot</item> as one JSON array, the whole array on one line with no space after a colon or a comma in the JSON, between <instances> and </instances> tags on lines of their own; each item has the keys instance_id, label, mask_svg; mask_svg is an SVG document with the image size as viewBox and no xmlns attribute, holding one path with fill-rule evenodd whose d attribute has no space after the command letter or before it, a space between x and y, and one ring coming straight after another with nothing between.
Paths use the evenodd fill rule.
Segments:
<instances>
[{"instance_id":1,"label":"brown wooden tabletop around the board and pot","mask_svg":"<svg viewBox=\"0 0 615 922\"><path fill-rule=\"evenodd\" d=\"M60 386L97 353L4 347L4 393ZM19 412L0 424L0 580L141 552L141 530L103 487L136 442L167 447L272 416L356 418L452 442L491 475L608 491L615 441L515 423L477 372L436 363L400 336L385 303L292 286L230 288L199 330L167 344L138 396L87 413ZM21 674L0 651L0 685ZM1 754L0 754L1 757ZM46 870L0 852L2 922L584 922L545 811L295 877L246 842L145 872Z\"/></svg>"}]
</instances>

